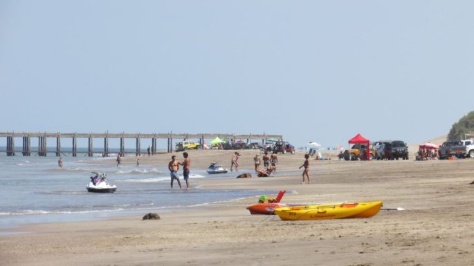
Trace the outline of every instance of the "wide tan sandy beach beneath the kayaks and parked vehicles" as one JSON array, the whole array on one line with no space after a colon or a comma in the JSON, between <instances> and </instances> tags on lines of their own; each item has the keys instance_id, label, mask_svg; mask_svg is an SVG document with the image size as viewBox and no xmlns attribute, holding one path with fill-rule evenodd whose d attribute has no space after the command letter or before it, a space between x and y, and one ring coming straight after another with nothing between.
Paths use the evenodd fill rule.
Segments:
<instances>
[{"instance_id":1,"label":"wide tan sandy beach beneath the kayaks and parked vehicles","mask_svg":"<svg viewBox=\"0 0 474 266\"><path fill-rule=\"evenodd\" d=\"M190 151L192 167L205 169L212 161L230 167L231 153ZM240 153L241 167L253 169L257 151ZM163 166L170 157L140 162ZM0 265L474 265L474 160L346 162L334 156L311 160L312 184L301 184L303 153L278 158L277 172L285 175L190 182L193 189L285 189L287 203L382 200L383 208L405 210L367 219L282 221L250 216L245 207L257 198L223 199L158 211L161 220L143 221L144 212L24 225L15 229L19 234L0 236Z\"/></svg>"}]
</instances>

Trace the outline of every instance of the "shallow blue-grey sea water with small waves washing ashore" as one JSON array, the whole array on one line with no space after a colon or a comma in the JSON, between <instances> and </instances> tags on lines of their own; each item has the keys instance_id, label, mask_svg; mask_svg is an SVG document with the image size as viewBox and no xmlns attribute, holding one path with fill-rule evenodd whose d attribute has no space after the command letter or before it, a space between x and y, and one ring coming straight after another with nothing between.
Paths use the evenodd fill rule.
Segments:
<instances>
[{"instance_id":1,"label":"shallow blue-grey sea water with small waves washing ashore","mask_svg":"<svg viewBox=\"0 0 474 266\"><path fill-rule=\"evenodd\" d=\"M96 220L110 216L169 211L225 200L275 193L261 190L200 189L193 187L197 178L222 178L235 173L209 175L206 169L192 169L191 189L179 189L176 181L170 189L166 166L122 165L115 158L64 157L62 169L57 157L0 155L0 229L32 222ZM107 164L94 161L107 160ZM107 173L115 193L89 193L91 171ZM245 172L242 170L241 172ZM251 171L248 171L251 172ZM181 174L181 173L180 173ZM180 180L185 187L184 180Z\"/></svg>"}]
</instances>

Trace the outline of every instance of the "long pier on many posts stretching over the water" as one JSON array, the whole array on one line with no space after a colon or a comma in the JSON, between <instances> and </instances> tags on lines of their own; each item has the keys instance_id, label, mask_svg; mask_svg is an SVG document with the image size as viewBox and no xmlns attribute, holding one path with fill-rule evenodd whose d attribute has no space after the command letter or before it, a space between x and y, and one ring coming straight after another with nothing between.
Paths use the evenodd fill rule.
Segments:
<instances>
[{"instance_id":1,"label":"long pier on many posts stretching over the water","mask_svg":"<svg viewBox=\"0 0 474 266\"><path fill-rule=\"evenodd\" d=\"M79 138L86 138L89 140L89 146L87 149L87 155L93 156L94 148L93 148L93 139L94 138L102 138L104 140L104 149L98 152L101 152L104 156L109 156L109 139L120 139L120 153L125 153L125 139L135 139L135 153L136 156L141 155L140 149L140 140L143 139L151 139L152 146L150 149L150 153L155 154L157 150L156 140L162 139L167 140L167 148L166 151L168 153L173 151L173 140L174 139L199 139L199 144L201 144L201 149L203 148L203 143L205 139L214 139L215 137L219 137L223 140L244 140L246 139L247 142L250 140L262 140L262 144L264 144L265 140L269 138L283 140L282 135L266 135L266 134L220 134L220 133L200 133L200 134L188 134L188 133L152 133L152 134L142 134L142 133L16 133L16 132L6 132L0 133L0 137L6 137L6 154L7 156L15 156L17 150L15 150L15 137L21 137L23 140L21 154L24 156L30 156L31 151L31 138L38 138L38 150L37 154L39 156L46 156L48 153L46 140L48 138L56 138L56 156L60 156L64 150L61 149L61 140L64 138L69 138L72 140L72 155L73 157L78 155L78 139ZM51 152L51 151L50 151ZM97 152L97 151L96 151Z\"/></svg>"}]
</instances>

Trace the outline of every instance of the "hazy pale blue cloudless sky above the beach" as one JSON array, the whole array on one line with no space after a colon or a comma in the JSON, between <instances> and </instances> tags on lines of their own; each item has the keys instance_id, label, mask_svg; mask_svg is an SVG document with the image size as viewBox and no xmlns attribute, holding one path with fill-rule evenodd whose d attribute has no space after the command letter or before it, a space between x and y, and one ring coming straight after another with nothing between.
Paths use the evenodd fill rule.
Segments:
<instances>
[{"instance_id":1,"label":"hazy pale blue cloudless sky above the beach","mask_svg":"<svg viewBox=\"0 0 474 266\"><path fill-rule=\"evenodd\" d=\"M423 142L474 110L473 10L432 0L0 0L0 131Z\"/></svg>"}]
</instances>

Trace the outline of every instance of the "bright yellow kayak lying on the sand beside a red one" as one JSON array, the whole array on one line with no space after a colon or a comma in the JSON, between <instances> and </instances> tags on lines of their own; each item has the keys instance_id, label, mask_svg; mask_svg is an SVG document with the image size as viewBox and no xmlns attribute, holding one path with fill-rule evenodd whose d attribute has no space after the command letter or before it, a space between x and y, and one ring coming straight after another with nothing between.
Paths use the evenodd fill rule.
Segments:
<instances>
[{"instance_id":1,"label":"bright yellow kayak lying on the sand beside a red one","mask_svg":"<svg viewBox=\"0 0 474 266\"><path fill-rule=\"evenodd\" d=\"M333 205L303 205L275 209L282 220L323 220L369 218L379 213L381 201L338 203Z\"/></svg>"}]
</instances>

